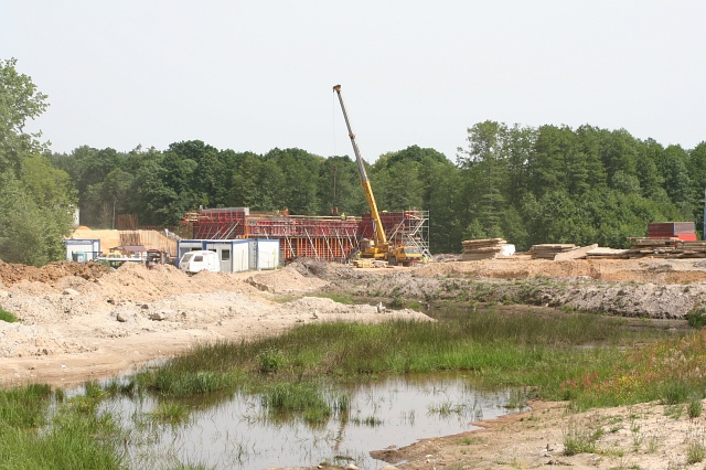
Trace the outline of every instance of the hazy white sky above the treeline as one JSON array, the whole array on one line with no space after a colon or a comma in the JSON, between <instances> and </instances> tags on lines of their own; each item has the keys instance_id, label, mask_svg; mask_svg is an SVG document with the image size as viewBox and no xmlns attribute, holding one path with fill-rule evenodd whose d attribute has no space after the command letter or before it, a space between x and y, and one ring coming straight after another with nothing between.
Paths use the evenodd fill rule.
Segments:
<instances>
[{"instance_id":1,"label":"hazy white sky above the treeline","mask_svg":"<svg viewBox=\"0 0 706 470\"><path fill-rule=\"evenodd\" d=\"M199 139L456 161L467 129L584 124L706 140L706 1L2 0L0 58L49 95L52 150Z\"/></svg>"}]
</instances>

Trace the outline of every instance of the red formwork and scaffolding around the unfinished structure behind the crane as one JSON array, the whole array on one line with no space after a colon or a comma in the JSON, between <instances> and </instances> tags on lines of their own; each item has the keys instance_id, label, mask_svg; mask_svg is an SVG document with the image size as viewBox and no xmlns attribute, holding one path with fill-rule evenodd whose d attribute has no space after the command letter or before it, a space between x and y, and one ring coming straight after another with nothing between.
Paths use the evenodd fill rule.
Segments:
<instances>
[{"instance_id":1,"label":"red formwork and scaffolding around the unfinished structure behind the crane","mask_svg":"<svg viewBox=\"0 0 706 470\"><path fill-rule=\"evenodd\" d=\"M428 211L381 213L387 239L415 246L428 257ZM285 260L315 258L344 263L360 249L363 238L373 237L373 220L253 213L247 207L200 210L186 214L181 224L195 239L269 238L280 241Z\"/></svg>"}]
</instances>

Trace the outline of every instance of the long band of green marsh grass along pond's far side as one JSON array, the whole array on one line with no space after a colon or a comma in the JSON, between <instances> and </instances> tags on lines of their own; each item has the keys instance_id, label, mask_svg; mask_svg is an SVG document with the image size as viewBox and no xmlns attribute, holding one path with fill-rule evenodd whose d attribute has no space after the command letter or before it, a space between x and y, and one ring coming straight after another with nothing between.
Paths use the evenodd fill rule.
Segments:
<instances>
[{"instance_id":1,"label":"long band of green marsh grass along pond's far side","mask_svg":"<svg viewBox=\"0 0 706 470\"><path fill-rule=\"evenodd\" d=\"M199 345L138 382L178 397L264 383L318 383L321 377L351 382L386 373L468 371L488 385L525 386L538 398L574 399L578 408L644 397L684 400L694 389L692 383L682 389L680 382L663 380L625 396L624 388L595 393L602 381L618 380L625 357L644 349L634 344L653 344L666 334L657 329L635 332L623 328L623 319L577 312L459 310L452 318L310 323L277 338Z\"/></svg>"}]
</instances>

